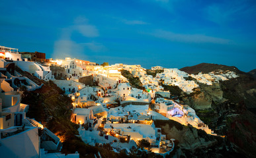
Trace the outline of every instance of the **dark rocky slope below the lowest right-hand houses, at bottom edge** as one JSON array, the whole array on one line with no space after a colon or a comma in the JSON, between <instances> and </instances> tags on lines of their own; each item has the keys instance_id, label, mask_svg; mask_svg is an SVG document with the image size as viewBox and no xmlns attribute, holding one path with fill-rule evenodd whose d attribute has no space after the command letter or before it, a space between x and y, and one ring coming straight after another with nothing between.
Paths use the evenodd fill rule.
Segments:
<instances>
[{"instance_id":1,"label":"dark rocky slope below the lowest right-hand houses, at bottom edge","mask_svg":"<svg viewBox=\"0 0 256 158\"><path fill-rule=\"evenodd\" d=\"M182 157L226 157L228 155L232 157L237 154L232 151L230 145L226 144L225 138L208 135L203 130L183 126L173 120L155 120L154 123L157 128L162 129L163 134L166 134L167 140L175 139L175 145L179 149L173 151L173 155L182 155Z\"/></svg>"}]
</instances>

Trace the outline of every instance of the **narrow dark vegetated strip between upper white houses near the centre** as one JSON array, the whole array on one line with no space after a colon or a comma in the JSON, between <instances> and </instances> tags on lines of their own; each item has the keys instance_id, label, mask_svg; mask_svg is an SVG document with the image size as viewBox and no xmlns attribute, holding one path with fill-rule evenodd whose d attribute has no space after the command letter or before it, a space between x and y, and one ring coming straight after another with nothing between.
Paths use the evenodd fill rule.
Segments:
<instances>
[{"instance_id":1,"label":"narrow dark vegetated strip between upper white houses near the centre","mask_svg":"<svg viewBox=\"0 0 256 158\"><path fill-rule=\"evenodd\" d=\"M127 78L127 80L130 82L130 85L133 88L138 88L140 90L145 90L145 88L142 86L142 82L140 82L140 78L132 76L132 74L128 70L121 70L122 76Z\"/></svg>"}]
</instances>

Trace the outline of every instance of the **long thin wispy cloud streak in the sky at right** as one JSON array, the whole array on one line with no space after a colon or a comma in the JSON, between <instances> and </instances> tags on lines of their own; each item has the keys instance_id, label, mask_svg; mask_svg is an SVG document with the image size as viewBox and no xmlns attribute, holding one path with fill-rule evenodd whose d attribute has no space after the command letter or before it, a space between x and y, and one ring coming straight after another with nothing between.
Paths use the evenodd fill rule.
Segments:
<instances>
[{"instance_id":1,"label":"long thin wispy cloud streak in the sky at right","mask_svg":"<svg viewBox=\"0 0 256 158\"><path fill-rule=\"evenodd\" d=\"M228 39L214 38L211 36L205 36L203 34L176 34L174 32L168 32L165 30L155 30L151 34L156 38L167 39L169 41L178 41L186 43L218 43L226 44L230 41Z\"/></svg>"}]
</instances>

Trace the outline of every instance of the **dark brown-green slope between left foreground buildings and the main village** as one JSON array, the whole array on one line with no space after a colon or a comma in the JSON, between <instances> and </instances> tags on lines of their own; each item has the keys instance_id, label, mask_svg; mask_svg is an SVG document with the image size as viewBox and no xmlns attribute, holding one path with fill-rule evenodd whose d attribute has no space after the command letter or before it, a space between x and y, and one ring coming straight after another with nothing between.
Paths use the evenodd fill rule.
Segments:
<instances>
[{"instance_id":1,"label":"dark brown-green slope between left foreground buildings and the main village","mask_svg":"<svg viewBox=\"0 0 256 158\"><path fill-rule=\"evenodd\" d=\"M26 113L27 117L42 122L62 140L62 153L78 151L80 157L95 157L94 154L100 152L103 157L117 157L114 151L109 151L105 147L87 145L81 138L75 136L79 134L77 131L79 126L70 121L71 99L52 81L44 83L39 90L24 91L21 102L30 107ZM50 117L52 119L48 120Z\"/></svg>"}]
</instances>

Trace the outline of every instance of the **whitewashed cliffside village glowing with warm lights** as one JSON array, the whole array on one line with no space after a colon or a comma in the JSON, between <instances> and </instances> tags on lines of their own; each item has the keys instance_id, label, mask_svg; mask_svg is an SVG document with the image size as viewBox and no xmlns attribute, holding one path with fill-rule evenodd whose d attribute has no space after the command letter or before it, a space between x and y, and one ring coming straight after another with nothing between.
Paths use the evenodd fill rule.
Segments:
<instances>
[{"instance_id":1,"label":"whitewashed cliffside village glowing with warm lights","mask_svg":"<svg viewBox=\"0 0 256 158\"><path fill-rule=\"evenodd\" d=\"M22 88L28 91L42 87L19 72L29 72L40 80L52 80L73 101L71 122L79 124L79 137L85 144L110 144L112 150L130 153L140 140L150 143L151 152L168 155L174 139L167 139L153 120L175 120L191 124L213 134L207 124L189 105L165 91L161 85L178 86L191 93L197 83L212 85L235 78L235 72L187 74L177 68L153 66L161 70L154 77L140 65L115 64L101 66L81 59L46 59L45 53L19 52L0 46L0 152L3 157L79 157L64 155L61 139L44 127L42 122L26 117L29 105L21 103ZM140 78L142 90L134 88L121 70ZM188 80L192 77L196 80ZM151 106L153 105L153 106ZM40 136L38 132L42 132Z\"/></svg>"}]
</instances>

